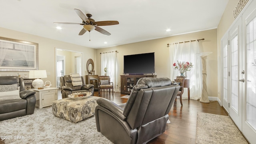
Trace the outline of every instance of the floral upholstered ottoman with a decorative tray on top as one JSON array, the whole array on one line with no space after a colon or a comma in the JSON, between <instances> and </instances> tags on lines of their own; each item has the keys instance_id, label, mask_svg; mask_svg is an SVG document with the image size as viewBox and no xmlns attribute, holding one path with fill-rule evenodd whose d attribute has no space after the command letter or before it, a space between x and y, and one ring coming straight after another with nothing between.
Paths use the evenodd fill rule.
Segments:
<instances>
[{"instance_id":1,"label":"floral upholstered ottoman with a decorative tray on top","mask_svg":"<svg viewBox=\"0 0 256 144\"><path fill-rule=\"evenodd\" d=\"M95 107L98 105L97 96L88 98L64 98L52 102L52 113L71 122L79 122L94 115Z\"/></svg>"}]
</instances>

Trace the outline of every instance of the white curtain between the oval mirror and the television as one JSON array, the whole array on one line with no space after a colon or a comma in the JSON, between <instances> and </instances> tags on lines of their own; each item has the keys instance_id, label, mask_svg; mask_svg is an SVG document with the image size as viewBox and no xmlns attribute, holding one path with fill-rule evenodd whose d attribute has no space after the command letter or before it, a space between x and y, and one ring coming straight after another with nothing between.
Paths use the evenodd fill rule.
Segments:
<instances>
[{"instance_id":1,"label":"white curtain between the oval mirror and the television","mask_svg":"<svg viewBox=\"0 0 256 144\"><path fill-rule=\"evenodd\" d=\"M104 68L107 68L107 76L110 76L110 82L113 82L114 92L117 90L117 52L104 52L101 54L101 76L105 75Z\"/></svg>"}]
</instances>

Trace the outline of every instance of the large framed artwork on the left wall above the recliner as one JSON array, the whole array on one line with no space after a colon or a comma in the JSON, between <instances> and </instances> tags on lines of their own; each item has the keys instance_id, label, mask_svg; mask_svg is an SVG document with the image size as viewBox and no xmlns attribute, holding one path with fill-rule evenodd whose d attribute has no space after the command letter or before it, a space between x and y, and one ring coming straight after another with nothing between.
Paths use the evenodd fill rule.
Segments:
<instances>
[{"instance_id":1,"label":"large framed artwork on the left wall above the recliner","mask_svg":"<svg viewBox=\"0 0 256 144\"><path fill-rule=\"evenodd\" d=\"M0 37L0 71L38 70L38 44Z\"/></svg>"}]
</instances>

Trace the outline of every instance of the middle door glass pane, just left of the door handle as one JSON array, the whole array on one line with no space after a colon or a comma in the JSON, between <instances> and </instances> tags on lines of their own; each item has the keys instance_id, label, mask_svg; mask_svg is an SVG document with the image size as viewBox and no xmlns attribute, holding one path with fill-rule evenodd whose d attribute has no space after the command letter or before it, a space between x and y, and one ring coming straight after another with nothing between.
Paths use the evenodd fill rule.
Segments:
<instances>
[{"instance_id":1,"label":"middle door glass pane, just left of the door handle","mask_svg":"<svg viewBox=\"0 0 256 144\"><path fill-rule=\"evenodd\" d=\"M231 40L231 106L238 112L238 36Z\"/></svg>"}]
</instances>

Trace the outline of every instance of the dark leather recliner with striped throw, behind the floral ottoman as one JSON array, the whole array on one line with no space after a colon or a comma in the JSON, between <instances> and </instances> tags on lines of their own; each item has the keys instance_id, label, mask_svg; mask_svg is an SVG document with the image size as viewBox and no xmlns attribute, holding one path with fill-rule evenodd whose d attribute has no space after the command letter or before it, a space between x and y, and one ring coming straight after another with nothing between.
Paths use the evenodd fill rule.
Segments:
<instances>
[{"instance_id":1,"label":"dark leather recliner with striped throw, behind the floral ottoman","mask_svg":"<svg viewBox=\"0 0 256 144\"><path fill-rule=\"evenodd\" d=\"M68 95L75 92L91 92L92 96L94 96L94 85L84 84L83 76L81 76L81 78L83 83L82 86L73 86L70 75L60 77L62 98L68 98Z\"/></svg>"}]
</instances>

